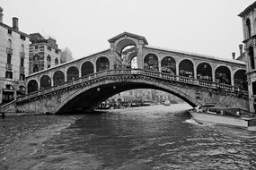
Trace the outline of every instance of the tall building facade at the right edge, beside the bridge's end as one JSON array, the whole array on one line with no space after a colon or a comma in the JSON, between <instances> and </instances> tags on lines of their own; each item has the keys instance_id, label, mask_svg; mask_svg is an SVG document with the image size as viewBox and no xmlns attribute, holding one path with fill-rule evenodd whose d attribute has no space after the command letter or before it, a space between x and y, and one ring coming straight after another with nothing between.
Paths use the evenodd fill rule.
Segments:
<instances>
[{"instance_id":1,"label":"tall building facade at the right edge, beside the bridge's end","mask_svg":"<svg viewBox=\"0 0 256 170\"><path fill-rule=\"evenodd\" d=\"M244 55L247 63L247 81L250 111L256 111L256 2L238 16L243 22Z\"/></svg>"}]
</instances>

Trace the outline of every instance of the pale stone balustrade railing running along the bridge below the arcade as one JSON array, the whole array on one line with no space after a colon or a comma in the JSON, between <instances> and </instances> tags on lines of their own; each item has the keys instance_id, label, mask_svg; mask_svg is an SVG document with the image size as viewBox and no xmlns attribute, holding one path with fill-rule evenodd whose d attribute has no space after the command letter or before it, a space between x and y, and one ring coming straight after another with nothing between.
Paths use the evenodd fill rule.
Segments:
<instances>
[{"instance_id":1,"label":"pale stone balustrade railing running along the bridge below the arcade","mask_svg":"<svg viewBox=\"0 0 256 170\"><path fill-rule=\"evenodd\" d=\"M150 76L150 77L154 77L154 78L158 78L158 79L163 79L163 80L168 80L168 81L178 81L178 82L182 82L182 83L199 85L199 86L212 88L212 89L222 89L222 90L229 91L229 92L236 92L236 93L243 93L243 94L248 93L247 90L245 90L245 89L236 88L231 85L221 84L221 83L212 82L212 81L198 80L198 79L193 79L190 77L173 75L170 73L154 72L154 71L143 70L143 69L114 69L114 70L104 70L101 72L95 72L93 74L89 74L84 77L72 80L72 81L66 81L66 82L56 85L56 86L52 86L52 87L49 87L46 89L40 89L38 91L31 92L30 94L27 94L21 98L18 98L17 101L27 99L27 98L34 98L34 97L36 98L40 95L47 94L47 93L57 90L57 89L65 89L67 87L71 87L71 86L74 86L75 84L80 84L85 81L91 81L94 79L104 77L106 75L117 75L117 74L146 75L146 76Z\"/></svg>"}]
</instances>

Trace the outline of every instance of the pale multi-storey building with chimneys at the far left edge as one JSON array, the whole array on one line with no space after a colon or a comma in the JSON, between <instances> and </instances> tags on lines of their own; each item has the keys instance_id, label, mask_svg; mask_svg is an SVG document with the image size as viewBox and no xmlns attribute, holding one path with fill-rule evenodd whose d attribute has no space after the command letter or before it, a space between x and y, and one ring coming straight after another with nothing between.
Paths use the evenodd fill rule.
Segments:
<instances>
[{"instance_id":1,"label":"pale multi-storey building with chimneys at the far left edge","mask_svg":"<svg viewBox=\"0 0 256 170\"><path fill-rule=\"evenodd\" d=\"M0 7L0 104L25 93L25 76L29 74L29 35L19 30L18 18L13 26L3 22Z\"/></svg>"}]
</instances>

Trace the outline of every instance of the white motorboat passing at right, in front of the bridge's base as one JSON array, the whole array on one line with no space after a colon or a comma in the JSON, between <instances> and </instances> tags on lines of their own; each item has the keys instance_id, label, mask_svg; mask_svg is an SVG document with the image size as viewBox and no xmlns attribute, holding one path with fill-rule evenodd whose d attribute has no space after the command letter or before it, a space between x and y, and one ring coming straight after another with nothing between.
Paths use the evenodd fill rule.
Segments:
<instances>
[{"instance_id":1,"label":"white motorboat passing at right, in front of the bridge's base","mask_svg":"<svg viewBox=\"0 0 256 170\"><path fill-rule=\"evenodd\" d=\"M225 124L256 132L256 115L240 108L197 106L190 110L190 115L199 123Z\"/></svg>"}]
</instances>

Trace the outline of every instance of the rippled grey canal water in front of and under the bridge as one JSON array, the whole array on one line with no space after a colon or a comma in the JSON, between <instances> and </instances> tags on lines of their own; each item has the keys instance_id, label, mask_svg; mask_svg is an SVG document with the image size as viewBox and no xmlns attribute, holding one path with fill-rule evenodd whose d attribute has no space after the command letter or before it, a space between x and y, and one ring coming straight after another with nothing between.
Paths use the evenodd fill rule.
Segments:
<instances>
[{"instance_id":1,"label":"rippled grey canal water in front of and under the bridge","mask_svg":"<svg viewBox=\"0 0 256 170\"><path fill-rule=\"evenodd\" d=\"M0 119L0 169L256 169L256 133L195 123L190 106Z\"/></svg>"}]
</instances>

